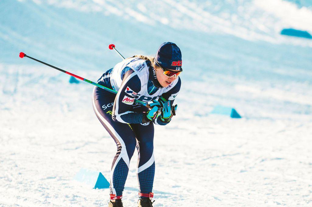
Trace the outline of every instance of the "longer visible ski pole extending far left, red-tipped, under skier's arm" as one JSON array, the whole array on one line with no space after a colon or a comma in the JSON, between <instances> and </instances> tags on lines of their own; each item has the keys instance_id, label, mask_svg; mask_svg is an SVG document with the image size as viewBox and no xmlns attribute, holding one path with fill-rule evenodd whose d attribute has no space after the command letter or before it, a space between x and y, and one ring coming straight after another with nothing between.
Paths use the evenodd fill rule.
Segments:
<instances>
[{"instance_id":1,"label":"longer visible ski pole extending far left, red-tipped, under skier's arm","mask_svg":"<svg viewBox=\"0 0 312 207\"><path fill-rule=\"evenodd\" d=\"M112 93L114 93L114 94L117 94L117 91L115 91L115 90L113 90L113 89L107 88L107 87L105 87L105 86L103 86L103 85L97 84L97 83L95 83L95 82L93 82L93 81L89 81L89 80L87 80L87 79L85 79L85 78L82 78L82 77L80 77L80 76L77 76L77 75L75 75L75 74L73 74L73 73L64 71L64 70L62 70L61 68L55 67L55 66L50 65L50 64L48 64L48 63L45 63L45 62L42 62L42 61L37 60L37 59L35 59L35 58L32 58L32 57L26 55L26 54L23 53L23 52L20 53L19 57L20 57L20 58L27 57L27 58L33 59L33 60L35 60L35 61L37 61L37 62L40 62L40 63L42 63L42 64L45 64L45 65L47 65L47 66L49 66L49 67L52 67L52 68L54 68L54 69L56 69L56 70L59 70L59 71L63 72L63 73L66 73L66 74L68 74L68 75L70 75L70 76L73 76L73 77L78 78L78 79L80 79L80 80L82 80L82 81L85 81L85 82L88 82L88 83L90 83L90 84L92 84L92 85L95 85L95 86L97 86L97 87L99 87L99 88L101 88L101 89L104 89L104 90L110 91L110 92L112 92ZM137 99L134 99L134 100L135 100L135 102L137 102L137 103L139 103L139 104L142 104L143 106L146 106L147 108L151 108L151 107L149 106L149 104L146 104L146 103L144 103L144 102L142 102L142 101L139 101L139 100L137 100Z\"/></svg>"}]
</instances>

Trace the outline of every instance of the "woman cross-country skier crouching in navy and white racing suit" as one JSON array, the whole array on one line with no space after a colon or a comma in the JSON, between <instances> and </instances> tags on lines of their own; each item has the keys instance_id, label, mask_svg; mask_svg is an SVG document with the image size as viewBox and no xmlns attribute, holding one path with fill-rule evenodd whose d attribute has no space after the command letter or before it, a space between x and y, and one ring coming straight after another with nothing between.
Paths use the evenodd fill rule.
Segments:
<instances>
[{"instance_id":1,"label":"woman cross-country skier crouching in navy and white racing suit","mask_svg":"<svg viewBox=\"0 0 312 207\"><path fill-rule=\"evenodd\" d=\"M112 94L98 87L93 90L95 114L117 145L110 175L109 207L123 206L122 192L135 148L138 150L138 206L153 206L154 124L166 125L175 115L177 105L173 106L173 101L181 86L178 77L181 66L180 49L166 42L160 45L155 57L127 58L97 81L118 91ZM152 102L151 109L136 103L135 99Z\"/></svg>"}]
</instances>

